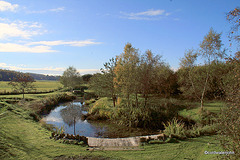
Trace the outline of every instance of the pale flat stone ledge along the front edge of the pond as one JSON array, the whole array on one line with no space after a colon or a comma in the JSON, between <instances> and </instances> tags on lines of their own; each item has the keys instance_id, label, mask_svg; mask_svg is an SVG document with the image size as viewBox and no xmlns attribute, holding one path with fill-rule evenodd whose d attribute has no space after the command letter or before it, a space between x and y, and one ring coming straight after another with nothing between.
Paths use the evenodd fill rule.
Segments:
<instances>
[{"instance_id":1,"label":"pale flat stone ledge along the front edge of the pond","mask_svg":"<svg viewBox=\"0 0 240 160\"><path fill-rule=\"evenodd\" d=\"M149 135L138 136L128 138L88 138L88 145L90 147L138 147L141 142L147 142L149 140L164 140L165 135Z\"/></svg>"}]
</instances>

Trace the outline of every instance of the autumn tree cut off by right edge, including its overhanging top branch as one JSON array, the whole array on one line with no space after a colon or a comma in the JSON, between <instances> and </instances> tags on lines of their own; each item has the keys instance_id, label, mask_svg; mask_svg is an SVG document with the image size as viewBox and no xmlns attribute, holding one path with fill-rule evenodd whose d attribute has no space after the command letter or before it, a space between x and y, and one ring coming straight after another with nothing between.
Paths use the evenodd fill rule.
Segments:
<instances>
[{"instance_id":1,"label":"autumn tree cut off by right edge, including its overhanging top branch","mask_svg":"<svg viewBox=\"0 0 240 160\"><path fill-rule=\"evenodd\" d=\"M240 26L240 9L237 7L230 11L227 19L232 23L232 35L240 44L239 35L237 35ZM240 51L235 53L234 57L227 59L231 65L231 72L226 75L226 92L229 101L229 107L222 110L219 117L220 142L224 149L234 151L234 155L227 155L228 159L240 158ZM226 80L225 79L225 80Z\"/></svg>"}]
</instances>

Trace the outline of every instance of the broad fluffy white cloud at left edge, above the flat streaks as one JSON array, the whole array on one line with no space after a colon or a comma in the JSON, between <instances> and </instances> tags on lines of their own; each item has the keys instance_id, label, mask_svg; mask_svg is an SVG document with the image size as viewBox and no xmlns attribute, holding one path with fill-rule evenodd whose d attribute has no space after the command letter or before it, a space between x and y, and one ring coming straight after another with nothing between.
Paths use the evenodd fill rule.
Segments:
<instances>
[{"instance_id":1,"label":"broad fluffy white cloud at left edge, above the flat streaks","mask_svg":"<svg viewBox=\"0 0 240 160\"><path fill-rule=\"evenodd\" d=\"M1 19L4 20L4 19ZM7 20L5 20L7 21ZM29 39L34 35L40 35L45 31L40 31L42 25L38 22L15 21L8 23L0 23L0 39L9 37L20 37Z\"/></svg>"}]
</instances>

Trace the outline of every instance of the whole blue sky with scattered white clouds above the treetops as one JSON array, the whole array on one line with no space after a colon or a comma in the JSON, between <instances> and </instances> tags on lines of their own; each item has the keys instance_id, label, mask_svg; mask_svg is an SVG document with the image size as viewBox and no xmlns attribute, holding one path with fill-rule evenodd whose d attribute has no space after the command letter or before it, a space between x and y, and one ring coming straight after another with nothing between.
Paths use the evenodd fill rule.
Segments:
<instances>
[{"instance_id":1,"label":"whole blue sky with scattered white clouds above the treetops","mask_svg":"<svg viewBox=\"0 0 240 160\"><path fill-rule=\"evenodd\" d=\"M211 27L229 48L226 14L238 6L239 0L0 1L0 69L61 75L74 66L93 74L131 43L177 70Z\"/></svg>"}]
</instances>

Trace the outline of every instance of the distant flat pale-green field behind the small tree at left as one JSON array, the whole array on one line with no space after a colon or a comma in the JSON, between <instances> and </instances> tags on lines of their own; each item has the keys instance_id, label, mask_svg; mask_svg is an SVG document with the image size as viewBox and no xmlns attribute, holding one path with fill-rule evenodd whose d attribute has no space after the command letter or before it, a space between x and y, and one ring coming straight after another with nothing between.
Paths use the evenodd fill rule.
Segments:
<instances>
[{"instance_id":1,"label":"distant flat pale-green field behind the small tree at left","mask_svg":"<svg viewBox=\"0 0 240 160\"><path fill-rule=\"evenodd\" d=\"M0 81L0 92L11 92L12 88L8 85L9 82ZM33 83L37 91L50 91L63 87L59 81L36 81Z\"/></svg>"}]
</instances>

